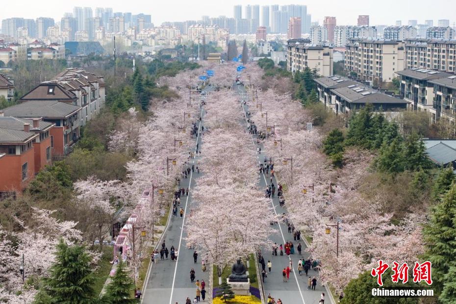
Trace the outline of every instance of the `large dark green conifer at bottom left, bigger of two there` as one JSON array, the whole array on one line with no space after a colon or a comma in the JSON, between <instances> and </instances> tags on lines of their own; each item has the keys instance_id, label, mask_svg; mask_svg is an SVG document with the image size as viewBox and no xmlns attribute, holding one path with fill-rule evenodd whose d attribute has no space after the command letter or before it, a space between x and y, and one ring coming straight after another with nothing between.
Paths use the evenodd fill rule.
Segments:
<instances>
[{"instance_id":1,"label":"large dark green conifer at bottom left, bigger of two there","mask_svg":"<svg viewBox=\"0 0 456 304\"><path fill-rule=\"evenodd\" d=\"M92 258L81 246L68 246L63 240L57 245L55 262L40 293L47 294L51 303L92 304L99 299L93 289ZM41 298L41 297L40 297ZM47 299L47 297L42 297ZM40 300L41 301L41 300ZM36 304L43 304L43 302ZM44 302L46 303L46 302Z\"/></svg>"}]
</instances>

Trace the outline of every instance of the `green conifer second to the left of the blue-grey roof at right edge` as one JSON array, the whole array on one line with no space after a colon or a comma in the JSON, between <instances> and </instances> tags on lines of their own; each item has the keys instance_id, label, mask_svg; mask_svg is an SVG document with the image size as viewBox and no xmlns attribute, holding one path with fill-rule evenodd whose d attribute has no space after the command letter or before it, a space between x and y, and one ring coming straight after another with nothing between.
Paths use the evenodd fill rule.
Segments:
<instances>
[{"instance_id":1,"label":"green conifer second to the left of the blue-grey roof at right edge","mask_svg":"<svg viewBox=\"0 0 456 304\"><path fill-rule=\"evenodd\" d=\"M397 174L404 172L404 153L403 146L398 138L395 138L391 144L383 141L380 147L379 156L374 160L376 169L383 173Z\"/></svg>"}]
</instances>

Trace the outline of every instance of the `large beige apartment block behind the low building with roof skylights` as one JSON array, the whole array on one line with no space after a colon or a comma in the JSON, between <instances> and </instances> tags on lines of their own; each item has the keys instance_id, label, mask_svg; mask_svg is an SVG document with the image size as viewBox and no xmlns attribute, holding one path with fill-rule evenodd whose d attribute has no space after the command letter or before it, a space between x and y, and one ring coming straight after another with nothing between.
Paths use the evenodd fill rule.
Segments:
<instances>
[{"instance_id":1,"label":"large beige apartment block behind the low building with roof skylights","mask_svg":"<svg viewBox=\"0 0 456 304\"><path fill-rule=\"evenodd\" d=\"M345 71L365 81L391 82L404 70L404 43L380 38L351 38L345 50Z\"/></svg>"}]
</instances>

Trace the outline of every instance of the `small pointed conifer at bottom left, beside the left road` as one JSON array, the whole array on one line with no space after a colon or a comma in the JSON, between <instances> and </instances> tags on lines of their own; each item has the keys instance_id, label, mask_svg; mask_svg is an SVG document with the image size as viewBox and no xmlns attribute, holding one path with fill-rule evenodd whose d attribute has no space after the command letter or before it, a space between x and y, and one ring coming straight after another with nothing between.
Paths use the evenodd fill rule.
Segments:
<instances>
[{"instance_id":1,"label":"small pointed conifer at bottom left, beside the left road","mask_svg":"<svg viewBox=\"0 0 456 304\"><path fill-rule=\"evenodd\" d=\"M110 304L138 303L138 300L130 298L133 290L133 280L128 275L125 263L120 261L114 277L111 278L111 282L106 287L106 293L102 300Z\"/></svg>"}]
</instances>

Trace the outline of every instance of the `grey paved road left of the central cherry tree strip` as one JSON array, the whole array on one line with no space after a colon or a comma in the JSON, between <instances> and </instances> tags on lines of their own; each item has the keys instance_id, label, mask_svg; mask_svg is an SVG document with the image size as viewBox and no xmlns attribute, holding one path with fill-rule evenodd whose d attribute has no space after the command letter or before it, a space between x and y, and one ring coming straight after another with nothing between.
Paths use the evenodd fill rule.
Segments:
<instances>
[{"instance_id":1,"label":"grey paved road left of the central cherry tree strip","mask_svg":"<svg viewBox=\"0 0 456 304\"><path fill-rule=\"evenodd\" d=\"M209 86L204 91L212 91L214 88ZM201 112L203 117L203 110ZM204 121L204 120L203 120ZM199 143L199 147L202 147L201 139L201 124L198 130L198 137L195 141ZM200 159L200 156L195 157L191 160L190 165L196 163ZM196 166L195 166L196 167ZM168 249L174 246L178 250L177 261L171 261L170 258L167 260L159 260L158 263L152 265L151 274L146 284L146 290L143 295L143 303L145 304L175 304L185 303L185 299L189 297L192 299L196 295L196 285L190 281L190 270L195 269L195 281L197 279L204 280L206 282L206 290L209 290L209 267L206 272L201 271L201 256L198 256L198 262L195 264L193 260L193 250L187 249L185 242L186 229L185 220L186 215L197 207L192 202L192 187L196 183L196 179L202 174L196 172L190 172L190 176L187 179L182 179L180 182L181 188L189 188L190 192L188 197L181 196L180 206L185 210L184 216L181 219L179 214L177 217L171 217L170 225L165 232L164 240ZM184 224L182 226L182 224ZM183 228L183 229L182 229ZM206 302L208 300L208 293L206 293Z\"/></svg>"}]
</instances>

